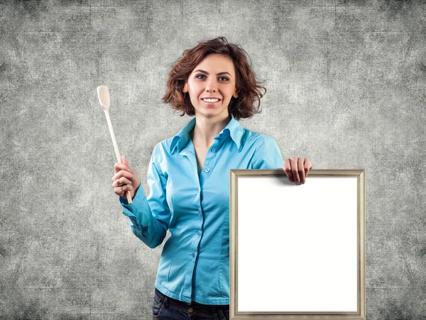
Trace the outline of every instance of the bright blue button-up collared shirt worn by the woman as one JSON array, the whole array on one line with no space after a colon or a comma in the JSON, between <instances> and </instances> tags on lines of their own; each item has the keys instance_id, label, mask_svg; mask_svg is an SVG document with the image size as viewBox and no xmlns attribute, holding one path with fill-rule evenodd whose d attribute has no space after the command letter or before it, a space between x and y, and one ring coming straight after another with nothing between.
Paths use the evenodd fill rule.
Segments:
<instances>
[{"instance_id":1,"label":"bright blue button-up collared shirt worn by the woman","mask_svg":"<svg viewBox=\"0 0 426 320\"><path fill-rule=\"evenodd\" d=\"M194 127L195 118L155 146L148 197L140 187L131 205L120 202L131 230L149 247L170 230L155 280L160 292L182 302L229 304L229 170L278 169L284 161L274 139L241 127L231 115L199 176Z\"/></svg>"}]
</instances>

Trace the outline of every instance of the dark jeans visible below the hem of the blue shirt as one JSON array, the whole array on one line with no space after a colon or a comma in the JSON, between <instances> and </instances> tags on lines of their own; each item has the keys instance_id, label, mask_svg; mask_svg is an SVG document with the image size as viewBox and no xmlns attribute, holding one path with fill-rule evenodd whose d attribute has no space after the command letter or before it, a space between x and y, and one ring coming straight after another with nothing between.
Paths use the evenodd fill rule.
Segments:
<instances>
[{"instance_id":1,"label":"dark jeans visible below the hem of the blue shirt","mask_svg":"<svg viewBox=\"0 0 426 320\"><path fill-rule=\"evenodd\" d=\"M229 304L187 303L165 296L155 288L153 319L160 320L229 320Z\"/></svg>"}]
</instances>

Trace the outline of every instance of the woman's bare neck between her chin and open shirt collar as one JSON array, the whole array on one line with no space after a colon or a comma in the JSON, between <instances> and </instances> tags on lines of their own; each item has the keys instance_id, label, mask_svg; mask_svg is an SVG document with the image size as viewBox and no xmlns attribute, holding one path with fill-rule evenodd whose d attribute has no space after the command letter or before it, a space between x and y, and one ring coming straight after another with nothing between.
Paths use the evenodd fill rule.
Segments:
<instances>
[{"instance_id":1,"label":"woman's bare neck between her chin and open shirt collar","mask_svg":"<svg viewBox=\"0 0 426 320\"><path fill-rule=\"evenodd\" d=\"M195 146L208 148L213 144L214 137L229 124L231 118L226 114L222 119L212 119L195 116L195 127L191 132L192 143Z\"/></svg>"}]
</instances>

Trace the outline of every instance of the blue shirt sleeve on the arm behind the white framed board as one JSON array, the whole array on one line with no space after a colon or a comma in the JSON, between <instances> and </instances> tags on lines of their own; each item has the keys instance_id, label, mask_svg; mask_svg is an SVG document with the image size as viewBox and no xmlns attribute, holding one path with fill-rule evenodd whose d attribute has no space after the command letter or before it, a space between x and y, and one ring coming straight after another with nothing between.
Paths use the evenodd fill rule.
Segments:
<instances>
[{"instance_id":1,"label":"blue shirt sleeve on the arm behind the white framed board","mask_svg":"<svg viewBox=\"0 0 426 320\"><path fill-rule=\"evenodd\" d=\"M268 136L258 139L251 169L280 169L283 166L283 156L275 140Z\"/></svg>"}]
</instances>

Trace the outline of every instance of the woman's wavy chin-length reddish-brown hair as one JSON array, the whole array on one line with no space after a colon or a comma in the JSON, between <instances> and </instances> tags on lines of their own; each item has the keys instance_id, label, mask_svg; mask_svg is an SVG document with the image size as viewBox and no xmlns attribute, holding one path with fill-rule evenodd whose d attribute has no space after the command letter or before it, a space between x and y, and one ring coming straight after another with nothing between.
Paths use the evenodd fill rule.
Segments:
<instances>
[{"instance_id":1,"label":"woman's wavy chin-length reddish-brown hair","mask_svg":"<svg viewBox=\"0 0 426 320\"><path fill-rule=\"evenodd\" d=\"M170 71L163 102L170 103L173 109L182 111L181 116L185 113L190 116L195 115L190 96L182 90L192 70L212 53L220 53L231 58L236 69L236 92L239 96L231 98L228 107L229 113L234 114L234 118L237 120L251 118L253 114L261 113L261 97L265 95L266 87L261 86L260 82L256 80L246 51L237 45L228 43L224 37L200 42L194 48L183 51L182 57L176 61ZM261 89L264 90L263 94ZM258 102L257 107L254 106L256 101Z\"/></svg>"}]
</instances>

